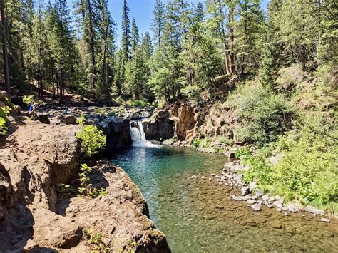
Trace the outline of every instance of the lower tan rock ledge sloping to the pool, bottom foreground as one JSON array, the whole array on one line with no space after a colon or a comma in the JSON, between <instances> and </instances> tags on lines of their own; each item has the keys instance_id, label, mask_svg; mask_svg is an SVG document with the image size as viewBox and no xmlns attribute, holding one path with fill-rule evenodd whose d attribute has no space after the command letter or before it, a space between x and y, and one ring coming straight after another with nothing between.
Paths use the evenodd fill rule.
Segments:
<instances>
[{"instance_id":1,"label":"lower tan rock ledge sloping to the pool, bottom foreground","mask_svg":"<svg viewBox=\"0 0 338 253\"><path fill-rule=\"evenodd\" d=\"M106 193L95 199L61 198L60 215L101 234L111 252L127 249L128 244L137 252L170 252L164 234L149 220L143 195L126 172L102 162L90 177L92 186L104 188Z\"/></svg>"}]
</instances>

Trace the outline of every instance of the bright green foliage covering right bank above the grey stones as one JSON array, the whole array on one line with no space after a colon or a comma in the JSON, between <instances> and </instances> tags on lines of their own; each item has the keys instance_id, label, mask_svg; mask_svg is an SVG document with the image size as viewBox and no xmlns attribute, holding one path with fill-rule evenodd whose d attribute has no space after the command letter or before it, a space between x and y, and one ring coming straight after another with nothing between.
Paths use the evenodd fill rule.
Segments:
<instances>
[{"instance_id":1,"label":"bright green foliage covering right bank above the grey stones","mask_svg":"<svg viewBox=\"0 0 338 253\"><path fill-rule=\"evenodd\" d=\"M277 165L266 162L273 145L244 158L250 165L245 182L256 179L262 189L284 195L287 201L296 199L337 213L336 121L334 115L327 113L305 114L298 128L277 140L275 147L284 155Z\"/></svg>"}]
</instances>

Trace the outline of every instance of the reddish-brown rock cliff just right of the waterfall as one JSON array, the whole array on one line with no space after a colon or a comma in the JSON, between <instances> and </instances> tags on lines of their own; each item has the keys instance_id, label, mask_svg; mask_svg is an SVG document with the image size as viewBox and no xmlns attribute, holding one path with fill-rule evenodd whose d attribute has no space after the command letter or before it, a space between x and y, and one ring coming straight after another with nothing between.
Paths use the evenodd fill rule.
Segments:
<instances>
[{"instance_id":1,"label":"reddish-brown rock cliff just right of the waterfall","mask_svg":"<svg viewBox=\"0 0 338 253\"><path fill-rule=\"evenodd\" d=\"M188 102L175 102L165 109L155 111L154 115L148 120L143 120L148 139L173 137L182 145L188 145L194 138L218 136L236 143L233 131L236 119L232 110L222 105L199 108ZM164 135L164 130L170 135Z\"/></svg>"}]
</instances>

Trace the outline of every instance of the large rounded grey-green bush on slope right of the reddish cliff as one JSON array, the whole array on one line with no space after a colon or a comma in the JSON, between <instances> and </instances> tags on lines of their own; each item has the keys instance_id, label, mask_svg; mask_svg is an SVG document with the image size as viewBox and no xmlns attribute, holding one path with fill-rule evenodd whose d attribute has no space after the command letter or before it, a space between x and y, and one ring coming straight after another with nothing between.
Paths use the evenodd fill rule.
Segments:
<instances>
[{"instance_id":1,"label":"large rounded grey-green bush on slope right of the reddish cliff","mask_svg":"<svg viewBox=\"0 0 338 253\"><path fill-rule=\"evenodd\" d=\"M290 125L292 109L282 95L276 95L255 81L240 86L227 105L235 108L240 125L235 135L241 141L262 147L276 140Z\"/></svg>"}]
</instances>

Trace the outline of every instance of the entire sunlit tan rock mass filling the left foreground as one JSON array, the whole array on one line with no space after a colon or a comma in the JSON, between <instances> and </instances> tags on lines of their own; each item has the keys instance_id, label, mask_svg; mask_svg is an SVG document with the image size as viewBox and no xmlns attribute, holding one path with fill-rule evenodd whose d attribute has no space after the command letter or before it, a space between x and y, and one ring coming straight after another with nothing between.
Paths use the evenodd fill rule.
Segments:
<instances>
[{"instance_id":1,"label":"entire sunlit tan rock mass filling the left foreground","mask_svg":"<svg viewBox=\"0 0 338 253\"><path fill-rule=\"evenodd\" d=\"M9 121L9 135L0 138L0 252L170 252L143 195L121 168L95 166L89 177L93 187L104 189L99 197L57 190L61 184L76 187L78 125L17 115Z\"/></svg>"}]
</instances>

